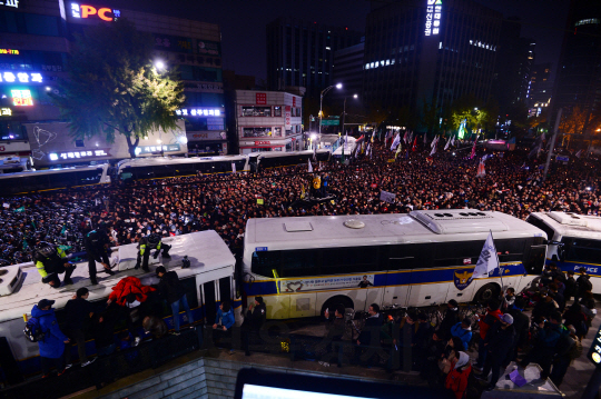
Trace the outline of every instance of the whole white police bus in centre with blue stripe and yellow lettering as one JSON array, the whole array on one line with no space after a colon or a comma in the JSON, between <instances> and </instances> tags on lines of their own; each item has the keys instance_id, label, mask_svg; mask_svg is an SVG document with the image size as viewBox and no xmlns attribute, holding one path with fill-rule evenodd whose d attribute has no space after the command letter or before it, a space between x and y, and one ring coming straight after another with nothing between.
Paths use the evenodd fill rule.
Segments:
<instances>
[{"instance_id":1,"label":"whole white police bus in centre with blue stripe and yellow lettering","mask_svg":"<svg viewBox=\"0 0 601 399\"><path fill-rule=\"evenodd\" d=\"M501 268L472 279L492 231ZM240 279L267 317L318 316L343 303L403 307L486 300L540 276L543 230L501 212L423 210L408 215L250 219Z\"/></svg>"}]
</instances>

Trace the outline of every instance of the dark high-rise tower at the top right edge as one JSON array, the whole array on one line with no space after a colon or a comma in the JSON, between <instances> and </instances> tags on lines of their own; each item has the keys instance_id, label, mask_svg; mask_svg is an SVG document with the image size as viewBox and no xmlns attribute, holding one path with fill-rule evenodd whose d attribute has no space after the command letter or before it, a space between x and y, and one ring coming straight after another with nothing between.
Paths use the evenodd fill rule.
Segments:
<instances>
[{"instance_id":1,"label":"dark high-rise tower at the top right edge","mask_svg":"<svg viewBox=\"0 0 601 399\"><path fill-rule=\"evenodd\" d=\"M555 79L553 113L601 111L601 2L572 0ZM554 116L553 116L554 118ZM554 119L552 119L554 120ZM584 130L591 127L585 126Z\"/></svg>"}]
</instances>

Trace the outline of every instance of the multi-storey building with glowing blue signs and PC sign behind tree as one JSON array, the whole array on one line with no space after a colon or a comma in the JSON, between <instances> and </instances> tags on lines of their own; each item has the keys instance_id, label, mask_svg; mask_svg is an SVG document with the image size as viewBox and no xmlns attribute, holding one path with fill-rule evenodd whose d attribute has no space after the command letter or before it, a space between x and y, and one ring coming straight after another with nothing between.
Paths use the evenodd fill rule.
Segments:
<instances>
[{"instance_id":1,"label":"multi-storey building with glowing blue signs and PC sign behind tree","mask_svg":"<svg viewBox=\"0 0 601 399\"><path fill-rule=\"evenodd\" d=\"M58 108L51 104L49 92L59 93L57 81L67 77L67 56L73 33L98 23L110 24L119 18L132 21L140 31L155 40L156 62L177 67L185 84L186 104L178 114L186 128L157 138L149 134L140 142L140 154L185 153L188 142L193 151L227 153L225 98L221 77L220 30L217 24L152 14L136 10L115 9L101 3L86 6L65 0L0 1L0 146L1 156L32 153L45 146L43 159L35 164L65 162L50 160L50 154L72 154L67 161L86 162L114 159L96 156L98 140L63 140L68 134ZM57 129L52 128L57 122ZM49 139L40 139L38 123ZM50 124L49 124L50 123ZM36 130L38 128L38 130ZM184 136L187 132L187 137ZM155 137L156 136L156 137ZM52 148L55 138L60 142ZM168 138L168 141L167 141ZM7 141L8 140L8 141ZM43 143L40 140L46 140ZM161 140L158 143L157 140ZM72 149L66 148L70 142ZM118 143L115 143L117 146ZM68 146L67 146L68 147ZM154 148L154 150L152 150ZM105 151L110 153L109 151ZM76 157L75 154L79 157ZM91 156L89 156L91 153ZM118 153L118 151L112 151ZM40 156L38 153L38 156Z\"/></svg>"}]
</instances>

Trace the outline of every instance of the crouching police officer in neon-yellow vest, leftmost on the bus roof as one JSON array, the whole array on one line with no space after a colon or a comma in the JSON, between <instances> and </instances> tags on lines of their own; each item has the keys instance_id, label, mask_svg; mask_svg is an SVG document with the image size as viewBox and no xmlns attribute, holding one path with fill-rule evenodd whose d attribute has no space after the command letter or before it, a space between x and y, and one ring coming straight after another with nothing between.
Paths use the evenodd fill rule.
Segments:
<instances>
[{"instance_id":1,"label":"crouching police officer in neon-yellow vest, leftmost on the bus roof","mask_svg":"<svg viewBox=\"0 0 601 399\"><path fill-rule=\"evenodd\" d=\"M65 286L73 283L71 275L73 273L76 266L69 263L67 253L62 249L57 248L49 242L41 241L36 246L33 263L42 277L43 283L48 283L53 288L60 288L58 275L61 273L65 273Z\"/></svg>"}]
</instances>

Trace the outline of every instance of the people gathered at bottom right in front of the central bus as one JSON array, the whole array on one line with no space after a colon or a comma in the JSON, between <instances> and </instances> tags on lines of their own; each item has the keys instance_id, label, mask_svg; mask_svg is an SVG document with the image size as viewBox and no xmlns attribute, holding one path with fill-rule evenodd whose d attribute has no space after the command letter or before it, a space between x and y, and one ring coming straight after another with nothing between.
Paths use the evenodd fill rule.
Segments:
<instances>
[{"instance_id":1,"label":"people gathered at bottom right in front of the central bus","mask_svg":"<svg viewBox=\"0 0 601 399\"><path fill-rule=\"evenodd\" d=\"M418 309L394 319L372 303L361 336L352 342L356 343L354 362L373 366L387 357L386 368L394 370L410 359L408 368L418 371L432 389L441 390L441 397L456 399L495 389L512 361L522 368L538 363L539 382L550 379L560 387L570 365L582 355L582 339L597 313L587 270L580 269L579 275L574 280L573 273L563 273L551 263L534 280L531 296L515 296L508 288L502 297L487 301L482 315L462 315L452 299L436 328ZM564 310L572 296L572 305ZM532 307L529 317L524 311ZM332 322L329 315L324 316ZM407 347L411 358L403 356Z\"/></svg>"}]
</instances>

